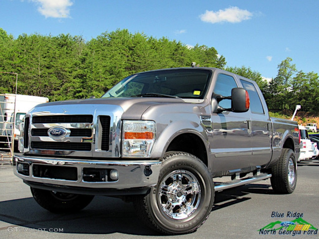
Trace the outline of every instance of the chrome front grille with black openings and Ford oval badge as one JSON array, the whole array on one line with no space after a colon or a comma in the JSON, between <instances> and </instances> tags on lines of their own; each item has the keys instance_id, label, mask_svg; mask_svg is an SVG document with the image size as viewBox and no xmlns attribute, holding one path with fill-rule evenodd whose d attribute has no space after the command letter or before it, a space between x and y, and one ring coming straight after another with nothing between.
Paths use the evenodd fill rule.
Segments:
<instances>
[{"instance_id":1,"label":"chrome front grille with black openings and Ford oval badge","mask_svg":"<svg viewBox=\"0 0 319 239\"><path fill-rule=\"evenodd\" d=\"M68 157L120 157L122 107L49 103L26 114L23 153ZM103 102L103 100L101 100ZM74 103L74 104L73 104ZM88 103L88 104L86 104Z\"/></svg>"}]
</instances>

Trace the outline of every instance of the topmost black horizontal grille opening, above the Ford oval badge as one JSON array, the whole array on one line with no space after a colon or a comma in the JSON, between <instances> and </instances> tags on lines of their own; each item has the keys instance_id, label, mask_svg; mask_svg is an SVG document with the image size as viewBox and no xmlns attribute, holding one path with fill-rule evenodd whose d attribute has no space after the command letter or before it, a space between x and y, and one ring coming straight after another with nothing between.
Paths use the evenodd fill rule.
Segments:
<instances>
[{"instance_id":1,"label":"topmost black horizontal grille opening, above the Ford oval badge","mask_svg":"<svg viewBox=\"0 0 319 239\"><path fill-rule=\"evenodd\" d=\"M92 123L93 115L41 115L33 116L33 124L43 123Z\"/></svg>"}]
</instances>

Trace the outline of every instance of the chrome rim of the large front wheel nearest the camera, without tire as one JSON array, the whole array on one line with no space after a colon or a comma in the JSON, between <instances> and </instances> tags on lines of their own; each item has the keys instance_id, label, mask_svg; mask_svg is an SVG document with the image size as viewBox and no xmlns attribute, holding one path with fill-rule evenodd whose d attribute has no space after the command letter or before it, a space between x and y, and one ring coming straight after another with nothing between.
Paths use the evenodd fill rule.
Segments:
<instances>
[{"instance_id":1,"label":"chrome rim of the large front wheel nearest the camera, without tire","mask_svg":"<svg viewBox=\"0 0 319 239\"><path fill-rule=\"evenodd\" d=\"M160 182L158 202L163 212L173 219L185 219L193 214L201 199L201 187L189 171L175 170Z\"/></svg>"}]
</instances>

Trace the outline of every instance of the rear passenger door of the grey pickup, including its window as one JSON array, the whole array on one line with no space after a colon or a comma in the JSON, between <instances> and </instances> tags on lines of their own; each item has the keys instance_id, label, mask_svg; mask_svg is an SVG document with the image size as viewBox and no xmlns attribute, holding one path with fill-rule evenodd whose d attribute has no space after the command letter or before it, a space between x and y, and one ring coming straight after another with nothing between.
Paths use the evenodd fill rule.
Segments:
<instances>
[{"instance_id":1,"label":"rear passenger door of the grey pickup, including its window","mask_svg":"<svg viewBox=\"0 0 319 239\"><path fill-rule=\"evenodd\" d=\"M261 100L263 96L259 88L248 80L240 79L240 81L243 88L248 91L250 98L249 113L253 162L255 165L264 165L271 158L271 121L268 110L266 106L263 107Z\"/></svg>"}]
</instances>

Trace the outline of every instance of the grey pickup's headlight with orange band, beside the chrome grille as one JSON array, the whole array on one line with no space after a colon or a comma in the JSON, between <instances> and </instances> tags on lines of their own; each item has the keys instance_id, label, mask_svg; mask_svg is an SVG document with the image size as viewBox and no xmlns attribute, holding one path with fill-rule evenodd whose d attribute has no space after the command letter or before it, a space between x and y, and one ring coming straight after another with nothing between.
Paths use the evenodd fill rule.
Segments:
<instances>
[{"instance_id":1,"label":"grey pickup's headlight with orange band, beside the chrome grille","mask_svg":"<svg viewBox=\"0 0 319 239\"><path fill-rule=\"evenodd\" d=\"M123 120L122 156L148 157L155 142L155 122Z\"/></svg>"}]
</instances>

